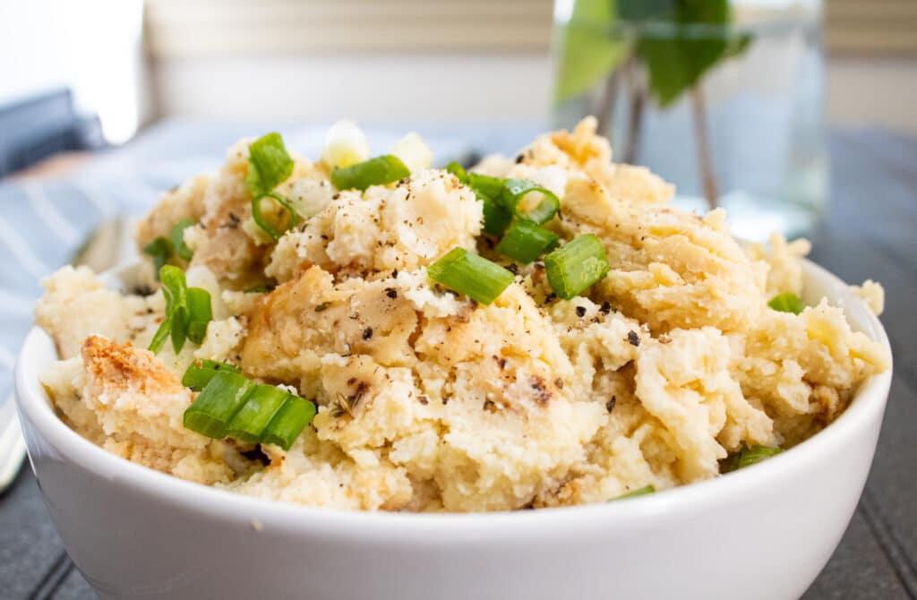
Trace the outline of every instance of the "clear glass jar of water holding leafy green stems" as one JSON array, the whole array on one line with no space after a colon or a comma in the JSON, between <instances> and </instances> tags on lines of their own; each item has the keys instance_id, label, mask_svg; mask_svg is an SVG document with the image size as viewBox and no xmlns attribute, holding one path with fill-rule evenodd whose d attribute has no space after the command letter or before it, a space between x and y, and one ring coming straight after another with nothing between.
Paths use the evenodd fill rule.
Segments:
<instances>
[{"instance_id":1,"label":"clear glass jar of water holding leafy green stems","mask_svg":"<svg viewBox=\"0 0 917 600\"><path fill-rule=\"evenodd\" d=\"M614 160L724 206L733 233L811 235L823 214L822 3L557 0L554 120L595 115Z\"/></svg>"}]
</instances>

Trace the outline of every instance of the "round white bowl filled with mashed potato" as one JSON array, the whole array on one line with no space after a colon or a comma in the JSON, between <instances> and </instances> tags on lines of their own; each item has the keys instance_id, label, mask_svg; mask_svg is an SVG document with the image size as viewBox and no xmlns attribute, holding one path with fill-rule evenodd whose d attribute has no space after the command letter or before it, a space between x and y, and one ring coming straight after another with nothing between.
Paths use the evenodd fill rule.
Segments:
<instances>
[{"instance_id":1,"label":"round white bowl filled with mashed potato","mask_svg":"<svg viewBox=\"0 0 917 600\"><path fill-rule=\"evenodd\" d=\"M844 306L888 346L846 285L805 265L807 300ZM611 504L514 513L358 513L273 503L117 458L55 416L39 328L16 391L32 469L64 545L103 597L799 597L841 539L876 449L891 373L830 427L762 464Z\"/></svg>"}]
</instances>

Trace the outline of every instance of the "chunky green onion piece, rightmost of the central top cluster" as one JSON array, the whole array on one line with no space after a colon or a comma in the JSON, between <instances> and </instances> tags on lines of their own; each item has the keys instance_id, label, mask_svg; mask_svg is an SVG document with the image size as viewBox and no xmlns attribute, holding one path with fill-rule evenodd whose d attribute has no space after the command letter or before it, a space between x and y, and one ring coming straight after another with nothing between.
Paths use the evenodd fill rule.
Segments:
<instances>
[{"instance_id":1,"label":"chunky green onion piece, rightmost of the central top cluster","mask_svg":"<svg viewBox=\"0 0 917 600\"><path fill-rule=\"evenodd\" d=\"M591 233L578 236L548 254L545 268L547 283L564 300L580 295L611 270L602 241Z\"/></svg>"}]
</instances>

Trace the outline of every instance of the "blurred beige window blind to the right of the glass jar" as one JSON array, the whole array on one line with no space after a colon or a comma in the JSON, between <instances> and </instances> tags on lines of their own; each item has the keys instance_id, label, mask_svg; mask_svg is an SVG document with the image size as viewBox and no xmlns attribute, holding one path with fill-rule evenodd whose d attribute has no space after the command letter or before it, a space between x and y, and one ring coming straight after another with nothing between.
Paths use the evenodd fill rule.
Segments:
<instances>
[{"instance_id":1,"label":"blurred beige window blind to the right of the glass jar","mask_svg":"<svg viewBox=\"0 0 917 600\"><path fill-rule=\"evenodd\" d=\"M917 0L827 0L834 54L917 56Z\"/></svg>"}]
</instances>

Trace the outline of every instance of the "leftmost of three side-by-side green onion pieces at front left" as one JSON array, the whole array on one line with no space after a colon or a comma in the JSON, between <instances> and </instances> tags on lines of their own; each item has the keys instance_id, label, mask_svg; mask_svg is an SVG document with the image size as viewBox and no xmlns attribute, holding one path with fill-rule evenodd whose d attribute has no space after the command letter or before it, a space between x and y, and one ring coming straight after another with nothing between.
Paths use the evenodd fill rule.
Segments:
<instances>
[{"instance_id":1,"label":"leftmost of three side-by-side green onion pieces at front left","mask_svg":"<svg viewBox=\"0 0 917 600\"><path fill-rule=\"evenodd\" d=\"M255 383L236 372L216 372L184 411L184 427L208 438L226 438L226 428L245 405Z\"/></svg>"}]
</instances>

